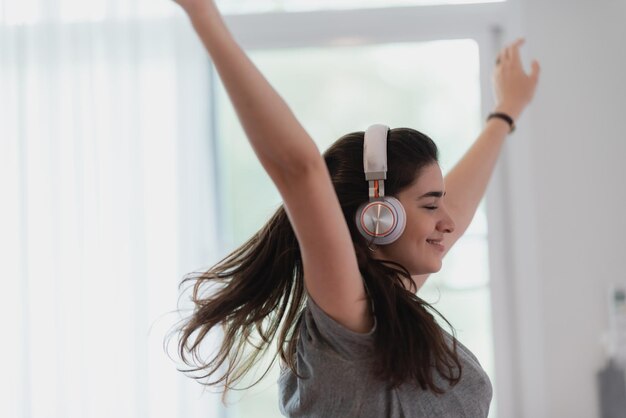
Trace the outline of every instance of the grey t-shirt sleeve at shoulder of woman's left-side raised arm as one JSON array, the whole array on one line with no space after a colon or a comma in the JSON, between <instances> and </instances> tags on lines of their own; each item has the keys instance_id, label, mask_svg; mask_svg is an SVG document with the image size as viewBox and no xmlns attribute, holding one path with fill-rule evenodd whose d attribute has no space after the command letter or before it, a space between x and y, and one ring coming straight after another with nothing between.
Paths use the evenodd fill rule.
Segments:
<instances>
[{"instance_id":1,"label":"grey t-shirt sleeve at shoulder of woman's left-side raised arm","mask_svg":"<svg viewBox=\"0 0 626 418\"><path fill-rule=\"evenodd\" d=\"M309 297L304 312L304 321L304 335L301 337L306 338L307 342L318 349L333 351L348 360L367 358L374 352L376 318L374 318L372 329L367 333L354 332L328 316Z\"/></svg>"}]
</instances>

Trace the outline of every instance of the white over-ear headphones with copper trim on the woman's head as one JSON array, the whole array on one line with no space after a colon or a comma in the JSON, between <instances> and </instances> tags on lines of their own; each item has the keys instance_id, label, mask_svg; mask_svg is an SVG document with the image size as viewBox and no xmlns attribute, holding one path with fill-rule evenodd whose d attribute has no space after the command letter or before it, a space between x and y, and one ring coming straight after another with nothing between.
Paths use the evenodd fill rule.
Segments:
<instances>
[{"instance_id":1,"label":"white over-ear headphones with copper trim on the woman's head","mask_svg":"<svg viewBox=\"0 0 626 418\"><path fill-rule=\"evenodd\" d=\"M369 182L369 202L356 211L356 226L369 244L391 244L402 235L406 226L406 212L398 199L385 196L387 179L386 125L372 125L365 131L363 141L363 169Z\"/></svg>"}]
</instances>

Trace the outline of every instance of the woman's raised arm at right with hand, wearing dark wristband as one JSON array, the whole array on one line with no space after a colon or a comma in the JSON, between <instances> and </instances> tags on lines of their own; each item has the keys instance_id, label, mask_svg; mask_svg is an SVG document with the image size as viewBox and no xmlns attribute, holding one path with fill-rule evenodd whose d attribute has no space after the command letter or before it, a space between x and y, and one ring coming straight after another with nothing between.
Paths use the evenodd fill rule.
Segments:
<instances>
[{"instance_id":1,"label":"woman's raised arm at right with hand, wearing dark wristband","mask_svg":"<svg viewBox=\"0 0 626 418\"><path fill-rule=\"evenodd\" d=\"M518 39L500 52L493 75L496 101L494 112L506 113L514 121L532 100L539 80L540 69L536 60L532 63L530 74L524 71L519 54L523 43L524 39ZM444 237L446 252L463 235L474 218L509 131L509 124L505 120L489 119L478 139L446 175L443 203L456 224L455 230ZM419 277L421 280L418 283L426 277Z\"/></svg>"}]
</instances>

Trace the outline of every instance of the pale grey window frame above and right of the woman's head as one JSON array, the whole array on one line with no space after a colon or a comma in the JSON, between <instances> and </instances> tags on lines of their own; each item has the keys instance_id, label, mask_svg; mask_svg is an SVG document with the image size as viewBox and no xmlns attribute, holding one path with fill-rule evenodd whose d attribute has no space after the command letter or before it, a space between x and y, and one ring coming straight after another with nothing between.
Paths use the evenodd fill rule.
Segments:
<instances>
[{"instance_id":1,"label":"pale grey window frame above and right of the woman's head","mask_svg":"<svg viewBox=\"0 0 626 418\"><path fill-rule=\"evenodd\" d=\"M479 45L481 69L490 69L503 45L505 33L519 30L518 10L518 1L508 0L502 3L230 14L225 15L225 20L246 50L469 38ZM384 22L393 22L393 25L385 25ZM211 71L211 79L216 82L213 67ZM481 70L480 73L481 113L486 116L494 106L491 71ZM214 87L211 91L215 91ZM211 112L213 122L216 122L215 109ZM512 160L507 151L505 148L501 160ZM498 398L497 405L492 405L492 408L497 408L498 416L519 417L522 416L522 405L535 395L528 393L530 391L523 392L522 389L528 388L530 382L534 381L537 369L524 372L521 362L528 359L523 354L528 344L520 343L522 336L519 334L528 323L516 318L511 309L516 299L512 295L512 289L516 287L514 259L519 258L513 252L513 241L519 238L511 237L511 233L521 226L508 226L514 216L510 204L507 204L511 198L507 190L513 187L507 170L519 170L523 162L513 164L513 168L505 168L505 164L508 162L499 163L496 167L486 196L489 286L497 381L494 390ZM519 183L518 180L515 182ZM530 364L530 361L525 363ZM228 412L224 410L221 416L228 417Z\"/></svg>"}]
</instances>

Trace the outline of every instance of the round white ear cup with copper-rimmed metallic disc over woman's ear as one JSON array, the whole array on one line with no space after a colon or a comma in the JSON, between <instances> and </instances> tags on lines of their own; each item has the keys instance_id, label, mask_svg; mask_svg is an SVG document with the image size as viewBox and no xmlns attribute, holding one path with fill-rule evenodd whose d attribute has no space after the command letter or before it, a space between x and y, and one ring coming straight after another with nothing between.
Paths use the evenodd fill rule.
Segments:
<instances>
[{"instance_id":1,"label":"round white ear cup with copper-rimmed metallic disc over woman's ear","mask_svg":"<svg viewBox=\"0 0 626 418\"><path fill-rule=\"evenodd\" d=\"M361 235L377 245L396 241L406 226L406 212L395 197L364 203L355 218Z\"/></svg>"}]
</instances>

